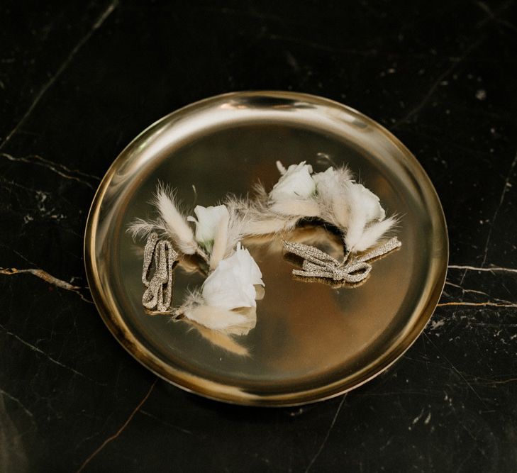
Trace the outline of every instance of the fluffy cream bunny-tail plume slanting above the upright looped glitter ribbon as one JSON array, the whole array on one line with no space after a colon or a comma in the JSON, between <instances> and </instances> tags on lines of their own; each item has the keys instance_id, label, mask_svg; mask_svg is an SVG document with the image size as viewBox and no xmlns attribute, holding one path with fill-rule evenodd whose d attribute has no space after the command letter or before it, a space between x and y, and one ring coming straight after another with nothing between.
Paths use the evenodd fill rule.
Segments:
<instances>
[{"instance_id":1,"label":"fluffy cream bunny-tail plume slanting above the upright looped glitter ribbon","mask_svg":"<svg viewBox=\"0 0 517 473\"><path fill-rule=\"evenodd\" d=\"M169 236L174 240L180 251L186 255L194 255L199 252L199 245L194 238L194 232L187 223L187 219L179 212L174 196L167 187L158 185L155 206L160 212L160 217L165 223Z\"/></svg>"}]
</instances>

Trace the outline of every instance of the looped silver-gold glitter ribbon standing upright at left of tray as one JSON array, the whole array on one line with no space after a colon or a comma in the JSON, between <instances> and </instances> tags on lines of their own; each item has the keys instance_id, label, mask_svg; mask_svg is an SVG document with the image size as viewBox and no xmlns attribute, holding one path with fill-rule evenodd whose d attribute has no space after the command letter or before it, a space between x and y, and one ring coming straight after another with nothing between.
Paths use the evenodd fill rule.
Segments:
<instances>
[{"instance_id":1,"label":"looped silver-gold glitter ribbon standing upright at left of tray","mask_svg":"<svg viewBox=\"0 0 517 473\"><path fill-rule=\"evenodd\" d=\"M178 258L171 243L159 240L156 233L151 233L145 243L142 282L147 287L142 296L145 308L159 312L169 310L172 299L172 265ZM149 280L152 262L155 262L155 273Z\"/></svg>"}]
</instances>

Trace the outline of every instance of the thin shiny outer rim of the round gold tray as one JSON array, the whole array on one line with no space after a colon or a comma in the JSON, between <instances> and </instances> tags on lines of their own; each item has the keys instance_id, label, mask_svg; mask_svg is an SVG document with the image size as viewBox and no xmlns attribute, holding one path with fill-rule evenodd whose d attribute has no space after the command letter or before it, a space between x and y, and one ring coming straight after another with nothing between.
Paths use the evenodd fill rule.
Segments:
<instances>
[{"instance_id":1,"label":"thin shiny outer rim of the round gold tray","mask_svg":"<svg viewBox=\"0 0 517 473\"><path fill-rule=\"evenodd\" d=\"M265 395L257 395L248 393L246 391L242 391L235 386L229 386L227 384L220 384L217 382L212 382L211 380L204 379L201 377L197 377L196 375L189 374L183 372L180 369L170 367L165 362L160 360L160 358L156 357L152 352L147 350L140 342L135 338L133 333L128 330L125 326L125 323L121 320L118 314L113 314L111 308L109 308L104 298L101 296L101 290L99 289L100 281L99 274L96 270L96 262L94 255L95 248L95 236L96 236L96 226L98 223L99 211L101 208L101 203L104 199L104 194L106 190L109 188L109 184L113 175L118 169L119 165L125 159L126 150L128 150L133 143L139 140L143 135L148 133L153 128L160 126L161 123L166 122L172 116L179 115L180 113L185 113L189 111L190 108L196 109L201 107L207 102L217 101L221 99L231 99L238 98L243 96L269 96L272 98L282 98L282 99L294 99L294 100L305 100L305 101L317 101L321 104L327 103L330 106L337 106L338 108L345 109L349 113L355 114L359 116L362 120L367 122L370 126L379 130L388 140L391 141L396 148L399 148L401 152L403 152L406 157L413 161L413 165L416 166L417 169L421 171L421 173L426 177L428 188L430 191L430 196L435 200L436 208L438 211L438 218L441 227L443 228L443 259L440 261L441 267L438 270L435 284L433 286L432 291L428 296L428 299L425 302L424 307L421 309L421 313L418 315L418 325L416 329L413 327L411 336L406 336L404 338L404 342L402 345L397 345L398 350L394 350L389 357L382 358L381 362L372 363L374 365L373 372L368 374L368 367L363 368L363 371L367 371L367 373L362 376L357 382L352 384L351 386L342 386L343 379L337 380L331 384L325 384L324 386L318 386L313 389L306 389L304 391L294 391L294 393L290 394L274 394L271 396ZM394 363L401 358L404 353L416 342L418 337L421 335L423 330L426 328L426 325L430 321L431 316L433 316L433 312L438 304L440 296L443 292L443 288L445 286L445 279L447 276L447 266L449 261L449 238L447 231L447 222L445 220L445 214L443 212L443 206L438 197L438 193L431 182L428 174L425 169L423 169L422 165L413 153L406 148L406 145L401 143L399 138L396 138L387 128L382 126L377 121L374 121L369 116L357 111L355 108L347 106L345 104L341 104L338 101L327 99L326 97L314 95L314 94L306 94L303 92L296 91L279 91L279 90L252 90L252 91L233 91L225 94L218 94L216 96L210 96L206 99L201 99L199 101L195 101L191 104L187 104L186 106L182 106L171 113L163 116L158 119L150 126L145 128L143 131L138 133L138 135L133 138L133 140L126 145L126 147L119 152L118 156L111 163L110 167L104 174L101 179L101 183L99 187L96 189L94 194L94 198L91 201L91 206L89 208L89 213L87 217L87 224L84 230L84 247L83 247L83 256L84 256L84 267L87 275L87 282L89 286L89 290L94 300L94 304L96 306L99 315L104 321L106 327L109 329L111 334L116 338L118 343L122 345L122 347L131 355L135 360L140 362L145 368L149 369L152 373L154 373L157 377L164 379L165 381L173 384L174 386L183 389L189 393L198 394L199 396L203 396L207 399L212 399L214 401L222 401L228 404L237 404L244 406L269 406L269 407L285 407L285 406L301 406L304 404L312 404L318 401L324 401L326 399L331 399L336 396L340 396L345 394L348 391L352 391L352 389L357 389L363 384L369 382L375 377L385 372L389 367L394 365ZM371 365L372 365L371 364ZM167 367L169 369L167 369ZM341 386L340 386L341 384ZM323 392L321 392L323 391Z\"/></svg>"}]
</instances>

